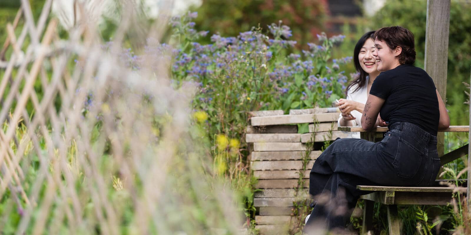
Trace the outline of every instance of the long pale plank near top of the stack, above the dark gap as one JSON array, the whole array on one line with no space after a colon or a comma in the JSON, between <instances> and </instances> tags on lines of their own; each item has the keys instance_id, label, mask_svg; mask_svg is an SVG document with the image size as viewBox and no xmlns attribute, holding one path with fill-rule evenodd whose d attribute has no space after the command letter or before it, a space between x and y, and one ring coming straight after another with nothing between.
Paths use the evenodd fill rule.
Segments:
<instances>
[{"instance_id":1,"label":"long pale plank near top of the stack, above the dark gap","mask_svg":"<svg viewBox=\"0 0 471 235\"><path fill-rule=\"evenodd\" d=\"M258 125L282 125L298 123L333 122L336 121L338 113L317 113L317 114L299 114L299 115L279 115L269 117L250 118L252 126Z\"/></svg>"}]
</instances>

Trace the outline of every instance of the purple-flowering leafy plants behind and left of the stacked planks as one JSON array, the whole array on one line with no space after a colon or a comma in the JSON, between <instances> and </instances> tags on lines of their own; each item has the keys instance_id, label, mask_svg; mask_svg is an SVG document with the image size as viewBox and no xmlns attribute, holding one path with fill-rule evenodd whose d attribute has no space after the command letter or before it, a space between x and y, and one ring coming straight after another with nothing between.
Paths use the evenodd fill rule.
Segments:
<instances>
[{"instance_id":1,"label":"purple-flowering leafy plants behind and left of the stacked planks","mask_svg":"<svg viewBox=\"0 0 471 235\"><path fill-rule=\"evenodd\" d=\"M215 143L215 165L230 178L248 164L243 139L248 111L330 107L343 96L348 78L341 66L351 57L332 59L331 52L344 36L322 33L317 35L320 45L309 43L309 50L292 54L297 42L289 40L291 29L278 22L268 25L268 33L252 28L236 37L214 34L210 44L200 44L197 40L208 32L195 30L191 20L196 16L189 12L171 20L177 47L173 82L198 84L193 108L208 118L203 125ZM241 151L231 150L221 136L242 143Z\"/></svg>"}]
</instances>

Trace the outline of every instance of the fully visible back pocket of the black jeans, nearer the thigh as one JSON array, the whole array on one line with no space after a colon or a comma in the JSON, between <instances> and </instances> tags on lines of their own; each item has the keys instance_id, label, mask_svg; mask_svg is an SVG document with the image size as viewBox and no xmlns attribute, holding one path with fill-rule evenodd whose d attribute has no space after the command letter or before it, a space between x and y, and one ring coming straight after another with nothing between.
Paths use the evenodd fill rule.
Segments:
<instances>
[{"instance_id":1,"label":"fully visible back pocket of the black jeans, nearer the thigh","mask_svg":"<svg viewBox=\"0 0 471 235\"><path fill-rule=\"evenodd\" d=\"M408 179L414 178L420 169L423 156L423 151L399 137L398 151L392 165L398 176Z\"/></svg>"}]
</instances>

